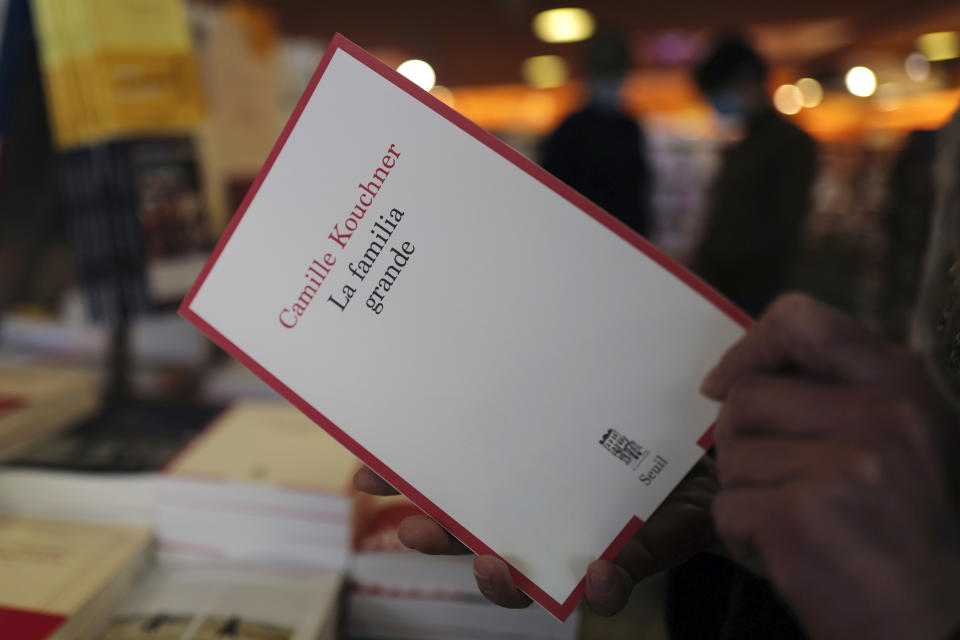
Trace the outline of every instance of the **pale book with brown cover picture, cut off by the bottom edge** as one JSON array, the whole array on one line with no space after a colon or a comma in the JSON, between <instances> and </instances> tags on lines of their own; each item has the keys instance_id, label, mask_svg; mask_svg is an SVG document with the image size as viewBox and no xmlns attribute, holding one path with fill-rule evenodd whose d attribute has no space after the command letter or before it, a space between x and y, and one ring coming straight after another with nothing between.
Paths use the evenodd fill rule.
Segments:
<instances>
[{"instance_id":1,"label":"pale book with brown cover picture, cut off by the bottom edge","mask_svg":"<svg viewBox=\"0 0 960 640\"><path fill-rule=\"evenodd\" d=\"M161 565L99 640L335 640L342 577L249 566Z\"/></svg>"}]
</instances>

